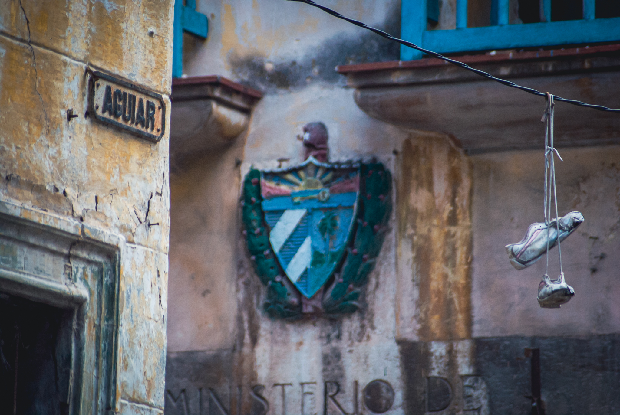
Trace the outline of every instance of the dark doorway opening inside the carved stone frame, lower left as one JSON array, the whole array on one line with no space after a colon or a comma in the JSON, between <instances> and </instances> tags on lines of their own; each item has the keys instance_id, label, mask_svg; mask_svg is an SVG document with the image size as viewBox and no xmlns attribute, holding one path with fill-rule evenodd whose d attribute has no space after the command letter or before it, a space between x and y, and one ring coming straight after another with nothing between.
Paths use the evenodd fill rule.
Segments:
<instances>
[{"instance_id":1,"label":"dark doorway opening inside the carved stone frame, lower left","mask_svg":"<svg viewBox=\"0 0 620 415\"><path fill-rule=\"evenodd\" d=\"M65 415L73 311L0 293L0 414Z\"/></svg>"}]
</instances>

